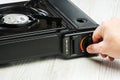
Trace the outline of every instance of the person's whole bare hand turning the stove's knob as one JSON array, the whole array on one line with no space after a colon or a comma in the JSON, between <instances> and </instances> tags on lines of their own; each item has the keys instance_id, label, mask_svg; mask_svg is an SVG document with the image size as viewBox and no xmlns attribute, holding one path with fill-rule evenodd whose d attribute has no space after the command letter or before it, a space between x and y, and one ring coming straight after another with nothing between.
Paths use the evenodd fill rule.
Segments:
<instances>
[{"instance_id":1,"label":"person's whole bare hand turning the stove's knob","mask_svg":"<svg viewBox=\"0 0 120 80\"><path fill-rule=\"evenodd\" d=\"M103 22L93 32L93 44L87 47L90 54L101 54L110 61L120 58L120 19L112 18Z\"/></svg>"}]
</instances>

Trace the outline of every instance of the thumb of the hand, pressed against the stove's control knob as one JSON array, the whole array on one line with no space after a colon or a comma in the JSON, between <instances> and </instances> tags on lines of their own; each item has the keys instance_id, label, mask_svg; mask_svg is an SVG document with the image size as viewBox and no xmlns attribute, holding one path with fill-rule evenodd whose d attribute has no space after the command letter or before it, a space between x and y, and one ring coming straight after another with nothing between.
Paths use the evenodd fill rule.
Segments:
<instances>
[{"instance_id":1,"label":"thumb of the hand, pressed against the stove's control knob","mask_svg":"<svg viewBox=\"0 0 120 80\"><path fill-rule=\"evenodd\" d=\"M103 41L95 44L91 44L87 47L87 52L88 53L93 53L93 54L98 54L98 53L103 53L104 51L105 44Z\"/></svg>"}]
</instances>

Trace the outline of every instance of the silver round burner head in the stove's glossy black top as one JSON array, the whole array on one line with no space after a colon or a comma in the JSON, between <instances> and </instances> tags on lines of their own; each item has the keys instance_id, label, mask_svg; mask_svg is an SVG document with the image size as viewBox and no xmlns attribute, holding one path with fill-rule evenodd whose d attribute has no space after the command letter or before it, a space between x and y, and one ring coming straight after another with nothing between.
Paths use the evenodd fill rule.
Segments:
<instances>
[{"instance_id":1,"label":"silver round burner head in the stove's glossy black top","mask_svg":"<svg viewBox=\"0 0 120 80\"><path fill-rule=\"evenodd\" d=\"M24 14L7 14L3 16L3 22L6 24L26 24L29 17Z\"/></svg>"}]
</instances>

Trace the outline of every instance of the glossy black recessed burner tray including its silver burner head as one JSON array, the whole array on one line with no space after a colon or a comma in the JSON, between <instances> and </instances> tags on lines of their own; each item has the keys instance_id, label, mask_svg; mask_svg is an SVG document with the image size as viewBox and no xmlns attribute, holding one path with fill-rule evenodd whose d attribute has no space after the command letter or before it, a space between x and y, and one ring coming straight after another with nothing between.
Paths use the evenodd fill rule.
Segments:
<instances>
[{"instance_id":1,"label":"glossy black recessed burner tray including its silver burner head","mask_svg":"<svg viewBox=\"0 0 120 80\"><path fill-rule=\"evenodd\" d=\"M62 27L62 19L52 17L43 9L26 6L0 8L0 33L21 33Z\"/></svg>"}]
</instances>

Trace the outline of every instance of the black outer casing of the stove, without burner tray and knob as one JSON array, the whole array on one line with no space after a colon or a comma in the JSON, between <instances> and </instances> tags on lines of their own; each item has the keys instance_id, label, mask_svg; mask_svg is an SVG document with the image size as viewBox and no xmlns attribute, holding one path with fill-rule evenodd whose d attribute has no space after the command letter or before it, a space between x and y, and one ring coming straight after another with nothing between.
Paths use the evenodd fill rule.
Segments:
<instances>
[{"instance_id":1,"label":"black outer casing of the stove, without burner tray and knob","mask_svg":"<svg viewBox=\"0 0 120 80\"><path fill-rule=\"evenodd\" d=\"M79 44L84 36L91 38L92 32L98 24L69 0L45 0L45 4L52 15L63 19L63 26L59 29L0 36L1 64L26 57L57 55L63 58L74 58L94 56L86 51L81 51ZM66 38L68 38L67 43ZM87 42L89 43L89 40ZM92 41L90 40L90 42ZM66 49L68 53L66 53Z\"/></svg>"}]
</instances>

